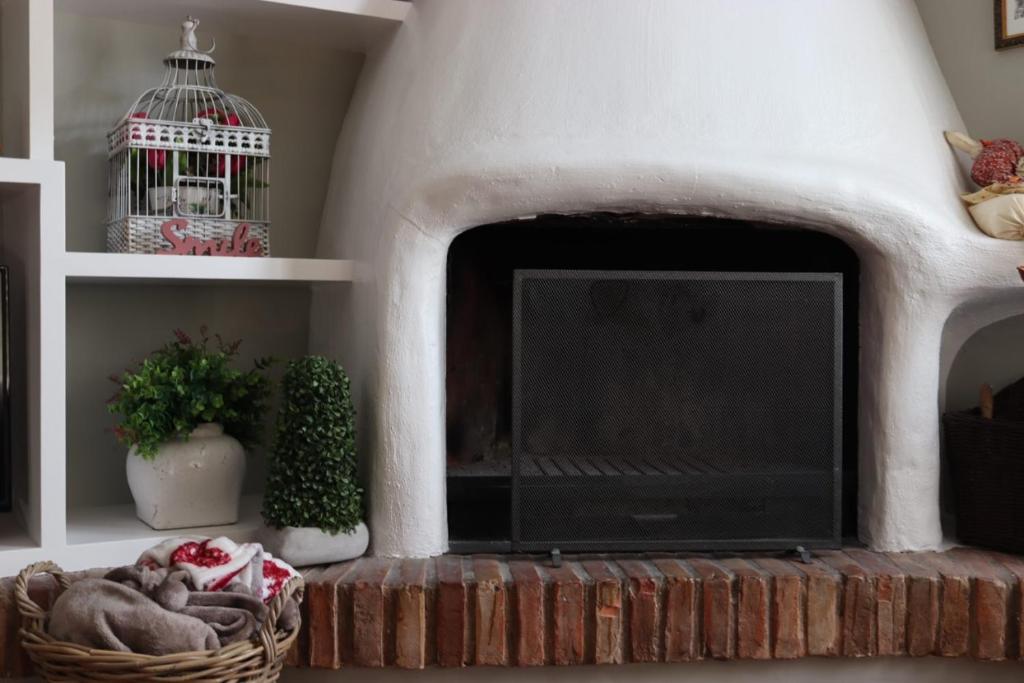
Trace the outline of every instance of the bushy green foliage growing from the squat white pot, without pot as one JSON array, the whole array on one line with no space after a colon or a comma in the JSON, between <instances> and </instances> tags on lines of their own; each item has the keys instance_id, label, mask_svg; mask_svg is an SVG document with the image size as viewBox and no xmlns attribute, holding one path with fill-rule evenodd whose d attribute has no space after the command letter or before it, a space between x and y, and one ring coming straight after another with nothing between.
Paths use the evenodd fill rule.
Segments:
<instances>
[{"instance_id":1,"label":"bushy green foliage growing from the squat white pot, without pot","mask_svg":"<svg viewBox=\"0 0 1024 683\"><path fill-rule=\"evenodd\" d=\"M260 441L270 381L263 371L270 358L242 371L231 362L240 341L226 343L220 335L200 341L175 330L174 341L153 352L135 370L112 377L118 392L108 410L121 416L114 433L151 460L164 441L188 438L205 422L223 425L224 432L249 447Z\"/></svg>"}]
</instances>

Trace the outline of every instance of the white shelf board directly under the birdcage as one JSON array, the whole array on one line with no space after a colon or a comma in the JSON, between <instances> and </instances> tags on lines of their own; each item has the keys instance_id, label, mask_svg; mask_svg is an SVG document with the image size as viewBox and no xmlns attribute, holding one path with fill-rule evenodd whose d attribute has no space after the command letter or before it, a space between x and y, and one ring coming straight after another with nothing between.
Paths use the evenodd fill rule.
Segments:
<instances>
[{"instance_id":1,"label":"white shelf board directly under the birdcage","mask_svg":"<svg viewBox=\"0 0 1024 683\"><path fill-rule=\"evenodd\" d=\"M63 272L70 283L263 282L346 283L352 261L319 258L164 256L67 252Z\"/></svg>"}]
</instances>

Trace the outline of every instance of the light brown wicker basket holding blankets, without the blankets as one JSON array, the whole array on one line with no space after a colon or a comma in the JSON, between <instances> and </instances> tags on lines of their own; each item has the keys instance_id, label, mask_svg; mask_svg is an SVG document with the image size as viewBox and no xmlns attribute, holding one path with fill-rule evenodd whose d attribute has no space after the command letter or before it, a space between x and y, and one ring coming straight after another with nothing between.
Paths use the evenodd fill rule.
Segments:
<instances>
[{"instance_id":1,"label":"light brown wicker basket holding blankets, without the blankets","mask_svg":"<svg viewBox=\"0 0 1024 683\"><path fill-rule=\"evenodd\" d=\"M296 578L270 602L266 622L254 641L161 656L90 649L55 640L44 630L46 613L29 597L29 581L40 572L56 579L58 595L71 586L71 581L56 564L38 562L26 567L14 583L14 597L22 613L22 646L36 665L36 674L46 681L276 681L285 654L298 633L297 628L287 633L274 628L285 601L293 594L301 597L302 579Z\"/></svg>"}]
</instances>

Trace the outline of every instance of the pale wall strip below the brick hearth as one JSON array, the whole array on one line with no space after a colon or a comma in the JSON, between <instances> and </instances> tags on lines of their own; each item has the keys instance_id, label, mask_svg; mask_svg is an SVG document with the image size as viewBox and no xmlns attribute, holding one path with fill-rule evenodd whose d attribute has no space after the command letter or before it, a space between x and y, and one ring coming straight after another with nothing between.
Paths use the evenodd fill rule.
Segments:
<instances>
[{"instance_id":1,"label":"pale wall strip below the brick hearth","mask_svg":"<svg viewBox=\"0 0 1024 683\"><path fill-rule=\"evenodd\" d=\"M683 665L544 669L286 670L282 683L1001 683L1021 680L1021 665L964 659L886 657L798 661L705 661Z\"/></svg>"}]
</instances>

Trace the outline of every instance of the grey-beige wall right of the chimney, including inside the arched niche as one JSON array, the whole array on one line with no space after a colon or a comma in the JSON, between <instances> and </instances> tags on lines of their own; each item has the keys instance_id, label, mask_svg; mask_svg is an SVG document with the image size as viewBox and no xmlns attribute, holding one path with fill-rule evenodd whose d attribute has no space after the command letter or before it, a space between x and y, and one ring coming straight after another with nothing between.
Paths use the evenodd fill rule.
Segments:
<instances>
[{"instance_id":1,"label":"grey-beige wall right of the chimney, including inside the arched niche","mask_svg":"<svg viewBox=\"0 0 1024 683\"><path fill-rule=\"evenodd\" d=\"M995 50L992 3L916 2L967 132L974 137L1024 140L1024 46ZM1022 349L1024 315L978 332L952 361L945 408L977 405L983 382L1000 388L1024 377Z\"/></svg>"}]
</instances>

